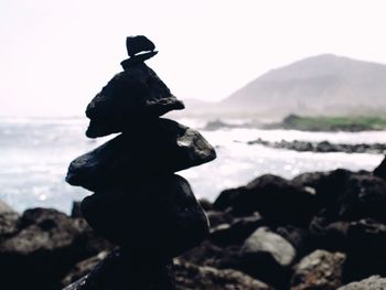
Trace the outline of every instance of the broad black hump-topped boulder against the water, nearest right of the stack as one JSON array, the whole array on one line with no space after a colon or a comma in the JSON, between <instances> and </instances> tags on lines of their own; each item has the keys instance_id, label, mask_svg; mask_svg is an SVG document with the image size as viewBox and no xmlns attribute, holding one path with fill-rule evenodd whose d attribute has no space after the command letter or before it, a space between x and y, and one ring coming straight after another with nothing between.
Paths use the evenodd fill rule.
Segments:
<instances>
[{"instance_id":1,"label":"broad black hump-topped boulder against the water, nearest right of the stack","mask_svg":"<svg viewBox=\"0 0 386 290\"><path fill-rule=\"evenodd\" d=\"M244 187L223 192L214 208L232 206L235 215L259 212L267 223L308 226L315 213L314 196L282 178L266 174Z\"/></svg>"}]
</instances>

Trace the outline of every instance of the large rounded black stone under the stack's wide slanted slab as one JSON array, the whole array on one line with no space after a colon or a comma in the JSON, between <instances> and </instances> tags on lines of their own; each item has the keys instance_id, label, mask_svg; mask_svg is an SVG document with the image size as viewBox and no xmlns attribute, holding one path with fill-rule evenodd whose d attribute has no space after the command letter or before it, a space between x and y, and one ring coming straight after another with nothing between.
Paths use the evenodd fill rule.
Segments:
<instances>
[{"instance_id":1,"label":"large rounded black stone under the stack's wide slanted slab","mask_svg":"<svg viewBox=\"0 0 386 290\"><path fill-rule=\"evenodd\" d=\"M178 256L208 235L208 222L189 183L178 175L147 178L87 196L82 212L118 245Z\"/></svg>"}]
</instances>

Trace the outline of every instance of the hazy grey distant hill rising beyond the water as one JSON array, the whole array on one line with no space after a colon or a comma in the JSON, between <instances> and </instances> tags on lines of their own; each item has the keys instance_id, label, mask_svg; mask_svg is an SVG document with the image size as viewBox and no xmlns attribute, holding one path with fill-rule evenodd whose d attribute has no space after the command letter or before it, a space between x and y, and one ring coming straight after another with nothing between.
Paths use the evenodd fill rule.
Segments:
<instances>
[{"instance_id":1,"label":"hazy grey distant hill rising beyond the water","mask_svg":"<svg viewBox=\"0 0 386 290\"><path fill-rule=\"evenodd\" d=\"M385 112L386 65L332 54L309 57L266 73L215 109L277 117Z\"/></svg>"}]
</instances>

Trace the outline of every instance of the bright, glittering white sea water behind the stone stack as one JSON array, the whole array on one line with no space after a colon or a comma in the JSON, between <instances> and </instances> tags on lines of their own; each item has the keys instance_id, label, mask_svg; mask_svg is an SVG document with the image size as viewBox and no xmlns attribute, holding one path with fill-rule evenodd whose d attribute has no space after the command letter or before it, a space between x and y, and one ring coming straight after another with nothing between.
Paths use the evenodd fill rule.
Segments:
<instances>
[{"instance_id":1,"label":"bright, glittering white sea water behind the stone stack","mask_svg":"<svg viewBox=\"0 0 386 290\"><path fill-rule=\"evenodd\" d=\"M213 162L178 173L187 179L199 198L210 201L225 189L245 185L266 173L291 179L303 172L337 168L372 171L384 158L383 154L296 152L247 144L257 138L268 141L386 142L385 131L205 130L207 120L202 118L181 118L178 121L199 129L216 149L217 159ZM53 207L69 213L74 201L90 194L64 181L69 162L114 138L88 139L86 128L86 118L0 118L0 200L18 212Z\"/></svg>"}]
</instances>

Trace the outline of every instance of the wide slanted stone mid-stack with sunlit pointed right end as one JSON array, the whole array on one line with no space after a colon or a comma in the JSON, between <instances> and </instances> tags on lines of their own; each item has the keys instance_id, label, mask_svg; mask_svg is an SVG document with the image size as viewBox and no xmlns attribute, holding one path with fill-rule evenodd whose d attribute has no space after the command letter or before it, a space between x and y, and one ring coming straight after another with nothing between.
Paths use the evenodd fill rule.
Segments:
<instances>
[{"instance_id":1,"label":"wide slanted stone mid-stack with sunlit pointed right end","mask_svg":"<svg viewBox=\"0 0 386 290\"><path fill-rule=\"evenodd\" d=\"M128 179L173 173L215 158L213 147L197 131L159 119L75 159L66 181L96 191Z\"/></svg>"}]
</instances>

